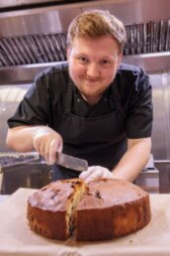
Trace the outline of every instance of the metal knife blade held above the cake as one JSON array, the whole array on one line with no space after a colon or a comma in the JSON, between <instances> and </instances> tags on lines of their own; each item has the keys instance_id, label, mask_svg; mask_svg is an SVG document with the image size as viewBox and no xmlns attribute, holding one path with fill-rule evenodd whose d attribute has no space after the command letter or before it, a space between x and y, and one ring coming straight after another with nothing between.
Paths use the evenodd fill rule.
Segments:
<instances>
[{"instance_id":1,"label":"metal knife blade held above the cake","mask_svg":"<svg viewBox=\"0 0 170 256\"><path fill-rule=\"evenodd\" d=\"M88 162L86 160L58 152L56 153L55 163L59 166L63 166L78 172L87 171L88 169Z\"/></svg>"}]
</instances>

